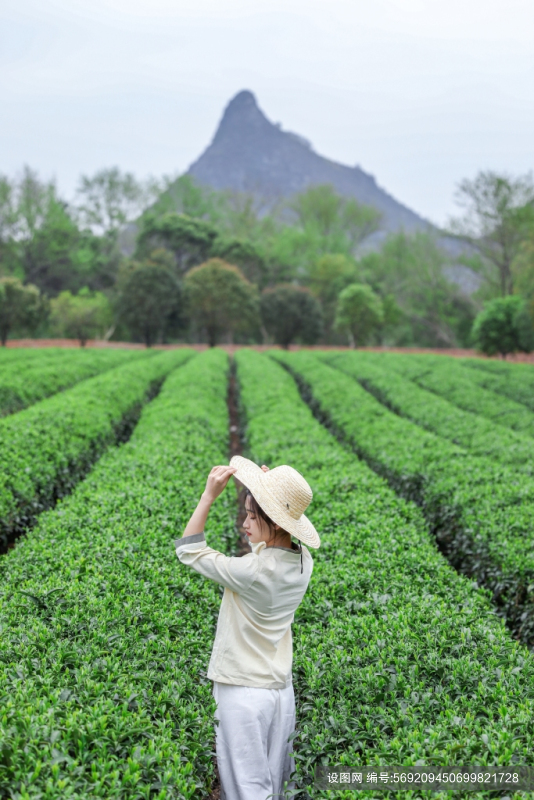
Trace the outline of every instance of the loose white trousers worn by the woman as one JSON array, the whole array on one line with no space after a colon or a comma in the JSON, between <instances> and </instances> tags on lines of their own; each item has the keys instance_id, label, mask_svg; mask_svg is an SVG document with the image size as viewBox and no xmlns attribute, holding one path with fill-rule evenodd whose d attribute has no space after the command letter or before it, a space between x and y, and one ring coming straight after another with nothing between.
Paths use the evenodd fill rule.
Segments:
<instances>
[{"instance_id":1,"label":"loose white trousers worn by the woman","mask_svg":"<svg viewBox=\"0 0 534 800\"><path fill-rule=\"evenodd\" d=\"M295 730L293 686L260 689L213 682L221 800L283 798L295 761L288 737ZM274 800L274 798L273 798Z\"/></svg>"}]
</instances>

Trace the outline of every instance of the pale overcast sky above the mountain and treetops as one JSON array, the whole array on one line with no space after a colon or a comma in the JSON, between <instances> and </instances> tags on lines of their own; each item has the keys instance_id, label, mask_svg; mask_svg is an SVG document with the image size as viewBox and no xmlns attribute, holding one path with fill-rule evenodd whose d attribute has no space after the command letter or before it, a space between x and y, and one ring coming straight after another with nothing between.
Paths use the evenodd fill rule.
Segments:
<instances>
[{"instance_id":1,"label":"pale overcast sky above the mountain and treetops","mask_svg":"<svg viewBox=\"0 0 534 800\"><path fill-rule=\"evenodd\" d=\"M534 167L534 0L2 0L0 172L184 172L250 89L316 152L446 222Z\"/></svg>"}]
</instances>

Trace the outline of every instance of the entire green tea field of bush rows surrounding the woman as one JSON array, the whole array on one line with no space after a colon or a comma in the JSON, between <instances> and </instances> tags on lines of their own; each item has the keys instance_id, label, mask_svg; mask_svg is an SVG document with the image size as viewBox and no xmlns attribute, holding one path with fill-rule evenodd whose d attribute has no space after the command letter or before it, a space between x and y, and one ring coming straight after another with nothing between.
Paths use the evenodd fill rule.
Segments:
<instances>
[{"instance_id":1,"label":"entire green tea field of bush rows surrounding the woman","mask_svg":"<svg viewBox=\"0 0 534 800\"><path fill-rule=\"evenodd\" d=\"M318 764L534 765L533 367L8 351L1 800L218 796L222 590L173 545L228 462L231 373L243 454L309 480L322 540L293 624L296 797L354 796L310 787ZM229 555L237 503L229 485L206 527Z\"/></svg>"}]
</instances>

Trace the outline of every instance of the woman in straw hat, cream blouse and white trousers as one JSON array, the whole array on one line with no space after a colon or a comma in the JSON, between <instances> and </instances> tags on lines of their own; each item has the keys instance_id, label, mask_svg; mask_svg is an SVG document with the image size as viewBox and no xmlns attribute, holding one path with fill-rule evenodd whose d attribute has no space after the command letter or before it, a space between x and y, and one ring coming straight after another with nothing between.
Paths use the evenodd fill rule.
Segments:
<instances>
[{"instance_id":1,"label":"woman in straw hat, cream blouse and white trousers","mask_svg":"<svg viewBox=\"0 0 534 800\"><path fill-rule=\"evenodd\" d=\"M243 528L251 553L225 556L205 542L213 501L234 475L247 488ZM182 562L224 586L208 668L217 703L221 800L283 796L295 770L291 623L313 569L307 547L320 539L304 511L312 492L297 470L258 467L234 456L211 470L199 504L176 542ZM291 542L294 536L299 547Z\"/></svg>"}]
</instances>

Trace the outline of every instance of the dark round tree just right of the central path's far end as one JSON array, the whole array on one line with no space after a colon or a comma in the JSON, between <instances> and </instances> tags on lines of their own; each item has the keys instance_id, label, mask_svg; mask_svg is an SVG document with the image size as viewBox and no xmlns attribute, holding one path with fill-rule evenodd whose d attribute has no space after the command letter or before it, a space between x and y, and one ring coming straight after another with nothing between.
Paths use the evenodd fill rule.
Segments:
<instances>
[{"instance_id":1,"label":"dark round tree just right of the central path's far end","mask_svg":"<svg viewBox=\"0 0 534 800\"><path fill-rule=\"evenodd\" d=\"M322 310L309 289L279 284L261 294L263 326L276 344L314 344L322 333Z\"/></svg>"}]
</instances>

